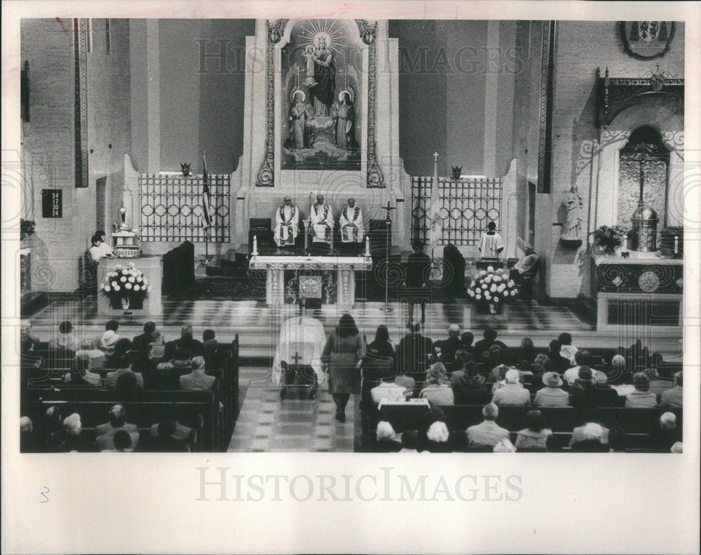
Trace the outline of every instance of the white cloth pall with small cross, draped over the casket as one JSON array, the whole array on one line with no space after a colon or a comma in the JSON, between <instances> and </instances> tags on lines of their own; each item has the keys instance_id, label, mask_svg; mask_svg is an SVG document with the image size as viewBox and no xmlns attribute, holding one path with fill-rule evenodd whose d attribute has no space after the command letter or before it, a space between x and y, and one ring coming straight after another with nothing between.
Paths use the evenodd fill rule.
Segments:
<instances>
[{"instance_id":1,"label":"white cloth pall with small cross, draped over the casket","mask_svg":"<svg viewBox=\"0 0 701 555\"><path fill-rule=\"evenodd\" d=\"M321 385L324 379L321 352L325 343L324 326L319 320L308 316L295 316L285 320L280 328L280 341L273 359L273 383L280 385L283 376L283 366L280 363L285 361L287 364L308 364ZM297 361L295 355L299 355Z\"/></svg>"}]
</instances>

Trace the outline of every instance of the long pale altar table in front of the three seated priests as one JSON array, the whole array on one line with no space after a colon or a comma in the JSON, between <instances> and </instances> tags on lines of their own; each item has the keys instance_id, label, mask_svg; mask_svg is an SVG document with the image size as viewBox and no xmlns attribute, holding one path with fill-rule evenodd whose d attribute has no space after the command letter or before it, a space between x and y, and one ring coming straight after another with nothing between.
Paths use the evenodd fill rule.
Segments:
<instances>
[{"instance_id":1,"label":"long pale altar table in front of the three seated priests","mask_svg":"<svg viewBox=\"0 0 701 555\"><path fill-rule=\"evenodd\" d=\"M248 268L250 270L266 270L266 304L272 308L280 308L285 304L286 270L293 270L297 276L299 276L300 270L335 273L335 304L342 310L351 310L353 303L355 303L355 271L372 269L372 259L364 256L254 255L248 263ZM319 291L318 294L320 293Z\"/></svg>"}]
</instances>

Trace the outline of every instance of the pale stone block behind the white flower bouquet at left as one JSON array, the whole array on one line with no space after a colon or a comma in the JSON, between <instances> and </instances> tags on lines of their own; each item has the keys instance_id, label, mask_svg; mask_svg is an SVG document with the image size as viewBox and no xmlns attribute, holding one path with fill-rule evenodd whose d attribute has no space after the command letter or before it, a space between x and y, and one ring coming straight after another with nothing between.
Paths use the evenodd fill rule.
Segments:
<instances>
[{"instance_id":1,"label":"pale stone block behind the white flower bouquet at left","mask_svg":"<svg viewBox=\"0 0 701 555\"><path fill-rule=\"evenodd\" d=\"M111 306L107 296L102 292L97 292L97 315L119 317L131 315L134 317L158 317L163 314L163 303L161 301L161 282L163 281L163 257L162 256L134 256L131 258L105 258L98 263L97 276L100 283L109 272L116 270L118 266L129 266L134 263L135 269L144 274L144 278L149 280L151 291L144 299L142 306L130 306L129 308L114 308Z\"/></svg>"}]
</instances>

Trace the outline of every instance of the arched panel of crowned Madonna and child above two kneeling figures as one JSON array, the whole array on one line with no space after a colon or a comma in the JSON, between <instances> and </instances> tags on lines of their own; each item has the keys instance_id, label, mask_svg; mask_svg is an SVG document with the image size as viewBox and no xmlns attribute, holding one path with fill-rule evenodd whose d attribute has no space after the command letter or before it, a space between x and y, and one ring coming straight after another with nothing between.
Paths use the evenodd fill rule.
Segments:
<instances>
[{"instance_id":1,"label":"arched panel of crowned Madonna and child above two kneeling figures","mask_svg":"<svg viewBox=\"0 0 701 555\"><path fill-rule=\"evenodd\" d=\"M301 20L281 56L283 170L360 170L363 44L353 21Z\"/></svg>"}]
</instances>

